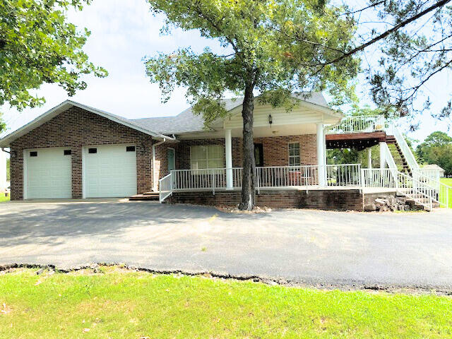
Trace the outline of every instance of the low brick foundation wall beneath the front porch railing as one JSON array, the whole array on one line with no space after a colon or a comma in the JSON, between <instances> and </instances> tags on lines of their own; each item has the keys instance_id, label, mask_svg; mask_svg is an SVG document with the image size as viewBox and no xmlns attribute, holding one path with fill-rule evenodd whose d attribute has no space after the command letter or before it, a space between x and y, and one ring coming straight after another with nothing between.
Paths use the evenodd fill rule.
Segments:
<instances>
[{"instance_id":1,"label":"low brick foundation wall beneath the front porch railing","mask_svg":"<svg viewBox=\"0 0 452 339\"><path fill-rule=\"evenodd\" d=\"M193 203L207 206L237 206L240 191L174 192L172 203ZM256 206L270 208L314 208L318 210L363 210L362 194L352 190L274 190L256 194Z\"/></svg>"}]
</instances>

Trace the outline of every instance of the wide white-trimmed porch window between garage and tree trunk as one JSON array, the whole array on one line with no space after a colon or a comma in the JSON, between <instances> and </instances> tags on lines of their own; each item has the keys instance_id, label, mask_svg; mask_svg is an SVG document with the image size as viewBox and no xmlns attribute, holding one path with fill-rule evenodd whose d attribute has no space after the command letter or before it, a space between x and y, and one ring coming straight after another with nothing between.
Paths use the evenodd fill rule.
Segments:
<instances>
[{"instance_id":1,"label":"wide white-trimmed porch window between garage and tree trunk","mask_svg":"<svg viewBox=\"0 0 452 339\"><path fill-rule=\"evenodd\" d=\"M196 145L190 147L190 168L225 167L225 148L222 145Z\"/></svg>"}]
</instances>

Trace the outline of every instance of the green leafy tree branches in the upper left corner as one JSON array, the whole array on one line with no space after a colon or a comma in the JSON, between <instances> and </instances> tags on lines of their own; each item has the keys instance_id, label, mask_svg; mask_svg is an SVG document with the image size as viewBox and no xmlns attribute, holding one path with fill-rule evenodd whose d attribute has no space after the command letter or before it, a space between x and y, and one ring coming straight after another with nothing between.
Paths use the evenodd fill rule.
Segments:
<instances>
[{"instance_id":1,"label":"green leafy tree branches in the upper left corner","mask_svg":"<svg viewBox=\"0 0 452 339\"><path fill-rule=\"evenodd\" d=\"M107 71L94 66L82 47L90 35L66 21L69 6L83 0L0 1L0 105L24 109L44 102L30 90L58 83L69 95L86 88L81 76Z\"/></svg>"}]
</instances>

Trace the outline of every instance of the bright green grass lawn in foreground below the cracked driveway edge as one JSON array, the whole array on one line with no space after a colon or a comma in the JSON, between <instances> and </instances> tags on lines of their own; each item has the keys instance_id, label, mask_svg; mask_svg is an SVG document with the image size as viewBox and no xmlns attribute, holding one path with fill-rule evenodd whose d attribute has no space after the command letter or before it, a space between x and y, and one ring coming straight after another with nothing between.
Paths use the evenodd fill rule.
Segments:
<instances>
[{"instance_id":1,"label":"bright green grass lawn in foreground below the cracked driveway edge","mask_svg":"<svg viewBox=\"0 0 452 339\"><path fill-rule=\"evenodd\" d=\"M451 338L452 299L235 280L15 270L0 338Z\"/></svg>"}]
</instances>

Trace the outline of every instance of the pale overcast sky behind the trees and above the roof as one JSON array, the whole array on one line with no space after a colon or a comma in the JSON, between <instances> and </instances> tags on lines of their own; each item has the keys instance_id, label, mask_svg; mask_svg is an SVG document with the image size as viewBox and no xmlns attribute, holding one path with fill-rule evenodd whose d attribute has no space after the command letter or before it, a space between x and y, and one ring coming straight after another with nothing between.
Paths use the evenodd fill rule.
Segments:
<instances>
[{"instance_id":1,"label":"pale overcast sky behind the trees and above the roof","mask_svg":"<svg viewBox=\"0 0 452 339\"><path fill-rule=\"evenodd\" d=\"M176 90L166 104L160 102L158 85L149 83L145 76L143 57L173 52L178 47L201 51L206 44L214 49L218 46L203 40L197 32L175 30L171 35L160 35L163 20L150 13L144 0L95 0L83 11L69 13L69 20L92 32L84 50L94 64L109 71L107 78L85 77L88 88L70 99L127 118L171 116L189 106L183 89ZM434 102L432 110L443 107L450 98L451 88L450 73L437 76L429 83L424 91ZM9 132L69 98L58 85L42 85L37 93L47 100L42 107L20 113L1 107ZM368 100L365 93L366 88L359 88L362 102ZM426 112L420 129L409 136L423 140L436 130L447 131L447 124L438 123Z\"/></svg>"}]
</instances>

